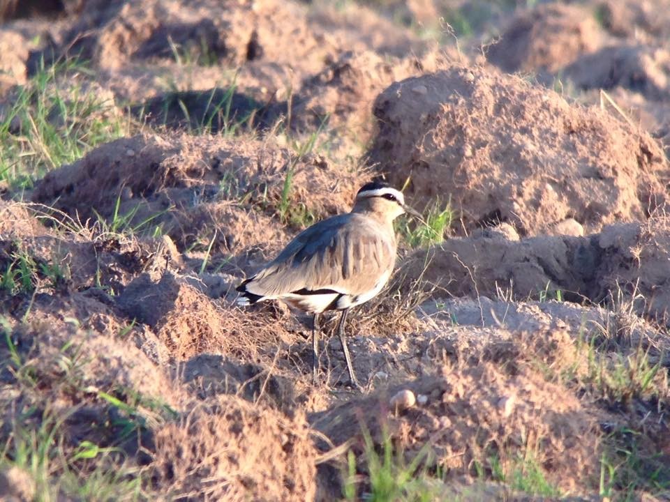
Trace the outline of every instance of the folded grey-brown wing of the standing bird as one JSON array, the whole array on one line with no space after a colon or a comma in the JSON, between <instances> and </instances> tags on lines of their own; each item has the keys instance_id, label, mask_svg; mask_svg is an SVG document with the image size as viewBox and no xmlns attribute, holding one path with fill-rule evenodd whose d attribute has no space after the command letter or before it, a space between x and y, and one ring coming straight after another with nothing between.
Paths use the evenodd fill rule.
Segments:
<instances>
[{"instance_id":1,"label":"folded grey-brown wing of the standing bird","mask_svg":"<svg viewBox=\"0 0 670 502\"><path fill-rule=\"evenodd\" d=\"M375 287L395 257L393 234L365 216L338 215L301 232L246 282L246 291L274 298L319 290L358 295Z\"/></svg>"}]
</instances>

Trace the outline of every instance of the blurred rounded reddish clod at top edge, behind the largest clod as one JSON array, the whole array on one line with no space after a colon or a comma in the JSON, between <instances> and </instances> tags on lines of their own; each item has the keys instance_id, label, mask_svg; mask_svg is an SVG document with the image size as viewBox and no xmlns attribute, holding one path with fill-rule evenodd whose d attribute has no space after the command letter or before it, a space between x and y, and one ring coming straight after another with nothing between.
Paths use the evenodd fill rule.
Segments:
<instances>
[{"instance_id":1,"label":"blurred rounded reddish clod at top edge, behind the largest clod","mask_svg":"<svg viewBox=\"0 0 670 502\"><path fill-rule=\"evenodd\" d=\"M580 54L593 52L602 35L588 8L544 3L514 17L486 57L506 72L555 73Z\"/></svg>"}]
</instances>

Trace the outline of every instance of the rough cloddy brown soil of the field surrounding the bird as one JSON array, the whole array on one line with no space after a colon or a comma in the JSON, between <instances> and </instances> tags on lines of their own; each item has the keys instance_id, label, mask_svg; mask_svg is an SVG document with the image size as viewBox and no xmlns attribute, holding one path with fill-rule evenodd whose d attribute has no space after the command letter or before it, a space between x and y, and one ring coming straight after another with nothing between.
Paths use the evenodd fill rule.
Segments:
<instances>
[{"instance_id":1,"label":"rough cloddy brown soil of the field surrounding the bird","mask_svg":"<svg viewBox=\"0 0 670 502\"><path fill-rule=\"evenodd\" d=\"M6 22L0 139L24 157L0 155L0 499L113 472L197 501L339 500L352 473L381 500L385 446L438 500L558 499L515 492L535 475L561 497L668 499L667 8L512 3L64 0ZM66 54L90 70L47 91L134 132L24 186L15 166L52 145L10 116L15 84ZM310 317L242 309L235 287L374 177L449 202L458 237L399 239L346 325L358 390L338 315L314 382ZM16 449L50 427L41 480Z\"/></svg>"}]
</instances>

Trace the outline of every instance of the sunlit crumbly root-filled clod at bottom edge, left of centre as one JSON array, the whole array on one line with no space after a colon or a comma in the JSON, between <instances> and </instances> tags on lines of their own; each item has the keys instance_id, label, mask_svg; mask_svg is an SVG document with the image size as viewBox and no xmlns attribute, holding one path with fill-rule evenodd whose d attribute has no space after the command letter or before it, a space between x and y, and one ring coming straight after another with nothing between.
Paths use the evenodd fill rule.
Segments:
<instances>
[{"instance_id":1,"label":"sunlit crumbly root-filled clod at bottom edge, left of centre","mask_svg":"<svg viewBox=\"0 0 670 502\"><path fill-rule=\"evenodd\" d=\"M227 501L313 500L316 451L304 416L239 397L211 398L156 431L152 478L171 496Z\"/></svg>"}]
</instances>

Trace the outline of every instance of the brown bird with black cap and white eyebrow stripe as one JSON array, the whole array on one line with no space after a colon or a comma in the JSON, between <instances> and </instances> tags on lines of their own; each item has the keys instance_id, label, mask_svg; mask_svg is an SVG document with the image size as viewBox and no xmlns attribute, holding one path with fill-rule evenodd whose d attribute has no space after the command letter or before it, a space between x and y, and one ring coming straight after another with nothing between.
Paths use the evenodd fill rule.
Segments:
<instances>
[{"instance_id":1,"label":"brown bird with black cap and white eyebrow stripe","mask_svg":"<svg viewBox=\"0 0 670 502\"><path fill-rule=\"evenodd\" d=\"M352 385L361 388L352 367L345 336L350 310L377 296L387 284L396 261L393 221L404 213L421 215L405 204L403 193L381 181L357 192L349 213L315 223L236 288L237 304L278 300L313 315L312 376L319 371L320 317L341 311L337 325Z\"/></svg>"}]
</instances>

